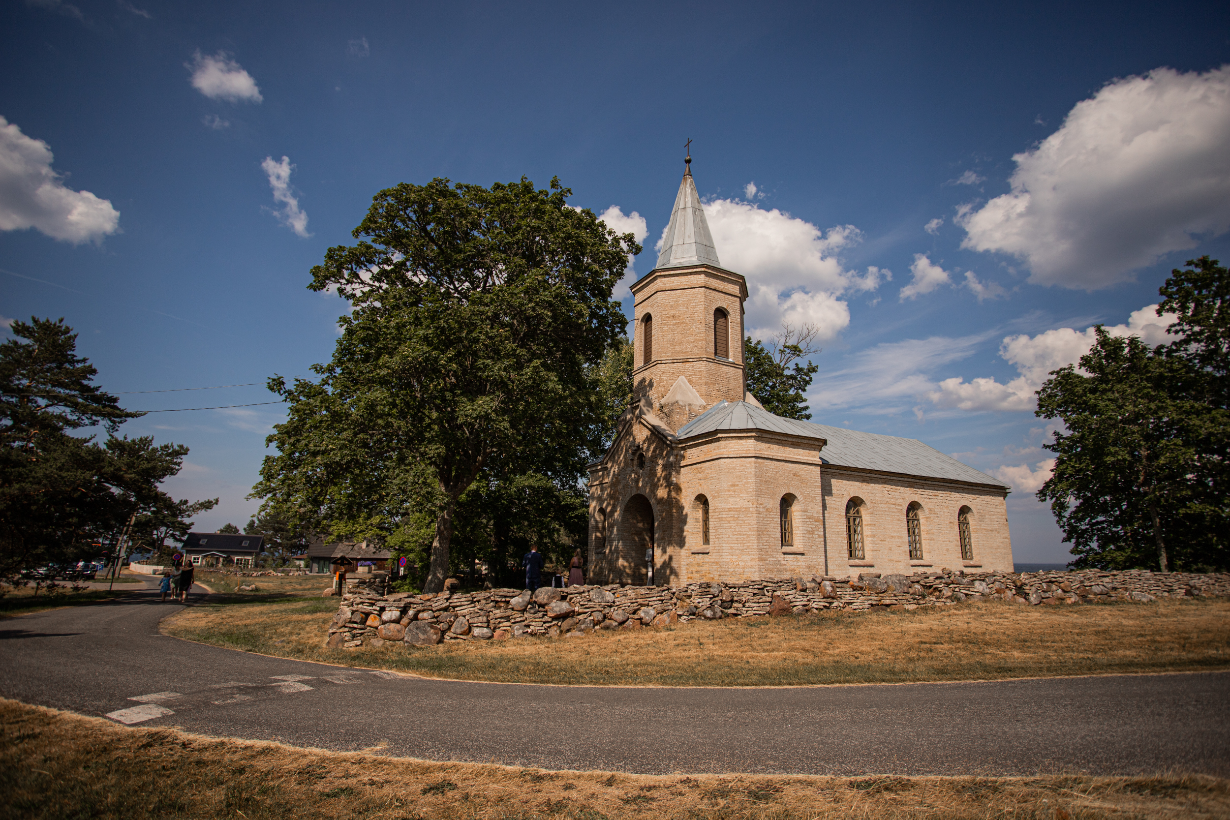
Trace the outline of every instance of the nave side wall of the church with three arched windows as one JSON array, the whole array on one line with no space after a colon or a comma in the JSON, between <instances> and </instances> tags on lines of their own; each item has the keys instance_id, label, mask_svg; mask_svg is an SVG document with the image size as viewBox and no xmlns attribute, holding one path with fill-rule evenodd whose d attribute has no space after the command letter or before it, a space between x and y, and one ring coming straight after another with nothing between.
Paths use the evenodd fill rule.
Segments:
<instances>
[{"instance_id":1,"label":"nave side wall of the church with three arched windows","mask_svg":"<svg viewBox=\"0 0 1230 820\"><path fill-rule=\"evenodd\" d=\"M909 574L937 567L1011 572L1012 540L1004 491L833 466L823 467L823 472L830 572ZM862 500L863 561L851 559L846 546L846 503L852 498ZM905 509L910 502L922 507L921 561L909 557ZM973 561L961 558L957 513L962 507L972 510Z\"/></svg>"}]
</instances>

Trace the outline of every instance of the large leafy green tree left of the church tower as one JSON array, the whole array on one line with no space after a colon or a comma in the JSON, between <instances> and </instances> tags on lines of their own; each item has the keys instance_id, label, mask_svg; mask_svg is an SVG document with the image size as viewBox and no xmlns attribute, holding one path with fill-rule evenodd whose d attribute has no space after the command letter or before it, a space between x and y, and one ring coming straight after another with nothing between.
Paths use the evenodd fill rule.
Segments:
<instances>
[{"instance_id":1,"label":"large leafy green tree left of the church tower","mask_svg":"<svg viewBox=\"0 0 1230 820\"><path fill-rule=\"evenodd\" d=\"M378 193L312 269L352 305L320 381L271 380L290 402L255 494L305 521L392 534L435 508L428 591L443 588L461 494L483 473L576 484L595 425L590 369L622 334L611 289L640 246L571 192L525 178L433 179ZM336 527L335 527L336 531Z\"/></svg>"}]
</instances>

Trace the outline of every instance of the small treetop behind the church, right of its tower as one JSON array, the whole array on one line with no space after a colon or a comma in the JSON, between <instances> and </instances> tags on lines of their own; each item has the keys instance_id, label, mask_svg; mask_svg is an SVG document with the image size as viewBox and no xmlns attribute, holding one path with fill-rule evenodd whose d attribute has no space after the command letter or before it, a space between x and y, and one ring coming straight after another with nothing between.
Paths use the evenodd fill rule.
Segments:
<instances>
[{"instance_id":1,"label":"small treetop behind the church, right of its tower","mask_svg":"<svg viewBox=\"0 0 1230 820\"><path fill-rule=\"evenodd\" d=\"M811 361L804 366L800 360L819 353L813 344L818 333L819 328L811 325L802 328L785 325L772 337L771 352L760 339L753 342L750 336L744 339L743 366L748 392L770 413L804 422L812 418L807 412L806 392L819 366Z\"/></svg>"}]
</instances>

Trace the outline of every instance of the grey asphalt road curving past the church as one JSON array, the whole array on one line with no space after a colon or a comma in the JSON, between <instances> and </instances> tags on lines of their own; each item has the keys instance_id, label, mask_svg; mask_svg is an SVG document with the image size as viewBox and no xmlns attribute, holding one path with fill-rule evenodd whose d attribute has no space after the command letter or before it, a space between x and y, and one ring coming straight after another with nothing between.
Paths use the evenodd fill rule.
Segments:
<instances>
[{"instance_id":1,"label":"grey asphalt road curving past the church","mask_svg":"<svg viewBox=\"0 0 1230 820\"><path fill-rule=\"evenodd\" d=\"M1230 776L1230 672L813 688L432 681L159 634L154 591L0 621L0 695L134 725L625 772Z\"/></svg>"}]
</instances>

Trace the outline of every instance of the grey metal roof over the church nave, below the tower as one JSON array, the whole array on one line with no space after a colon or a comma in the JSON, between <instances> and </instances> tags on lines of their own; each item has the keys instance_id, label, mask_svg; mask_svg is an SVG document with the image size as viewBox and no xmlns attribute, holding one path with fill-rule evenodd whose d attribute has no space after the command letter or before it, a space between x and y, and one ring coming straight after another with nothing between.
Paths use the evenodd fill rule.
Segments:
<instances>
[{"instance_id":1,"label":"grey metal roof over the church nave, below the tower","mask_svg":"<svg viewBox=\"0 0 1230 820\"><path fill-rule=\"evenodd\" d=\"M689 439L715 430L772 430L809 439L825 439L828 444L820 451L820 462L836 467L1006 487L1000 479L974 470L918 439L860 433L843 427L782 418L748 402L720 402L681 427L678 436Z\"/></svg>"}]
</instances>

